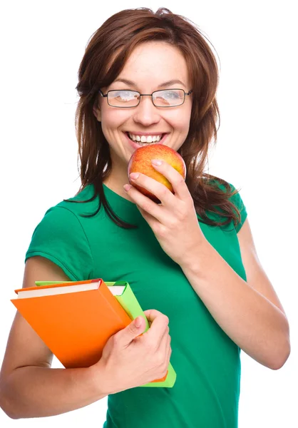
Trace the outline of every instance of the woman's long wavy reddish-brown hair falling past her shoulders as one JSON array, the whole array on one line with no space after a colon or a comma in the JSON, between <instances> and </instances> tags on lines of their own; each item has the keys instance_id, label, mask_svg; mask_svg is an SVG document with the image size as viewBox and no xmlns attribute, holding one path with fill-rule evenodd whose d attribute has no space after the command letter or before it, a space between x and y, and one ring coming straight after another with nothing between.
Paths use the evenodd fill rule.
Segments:
<instances>
[{"instance_id":1,"label":"woman's long wavy reddish-brown hair falling past her shoulders","mask_svg":"<svg viewBox=\"0 0 298 428\"><path fill-rule=\"evenodd\" d=\"M106 200L103 182L111 173L111 155L101 123L93 114L93 106L98 102L99 89L110 86L133 49L148 41L164 41L178 48L190 73L193 90L190 128L178 153L185 161L185 183L192 195L196 213L202 218L199 221L212 226L230 224L231 221L237 225L241 221L240 211L230 197L239 190L233 190L222 178L205 173L208 151L217 140L217 119L220 126L220 112L215 98L219 81L217 62L197 26L166 8L160 8L155 13L148 8L120 11L108 18L89 39L78 70L76 90L80 98L75 121L81 161L81 187L78 193L92 184L94 195L88 200L65 201L86 203L98 196L96 212L83 217L96 215L103 204L108 217L116 225L138 228L121 220ZM206 212L219 214L226 220L212 220Z\"/></svg>"}]
</instances>

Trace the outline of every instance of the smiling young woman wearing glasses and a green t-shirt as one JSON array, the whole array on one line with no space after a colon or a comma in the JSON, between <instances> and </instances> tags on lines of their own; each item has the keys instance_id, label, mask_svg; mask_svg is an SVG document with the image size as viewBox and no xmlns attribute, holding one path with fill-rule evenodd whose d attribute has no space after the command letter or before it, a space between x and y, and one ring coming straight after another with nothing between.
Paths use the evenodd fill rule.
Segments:
<instances>
[{"instance_id":1,"label":"smiling young woman wearing glasses and a green t-shirt","mask_svg":"<svg viewBox=\"0 0 298 428\"><path fill-rule=\"evenodd\" d=\"M52 369L48 348L16 314L1 369L12 418L46 417L108 395L106 428L237 427L240 350L277 370L290 352L284 309L257 258L235 187L205 173L219 111L218 69L194 24L168 9L130 9L91 37L78 72L81 188L49 208L26 253L35 280L127 280L150 321L132 322L84 369ZM142 145L180 153L185 180L128 162ZM170 327L170 328L169 328ZM173 388L140 385L165 374Z\"/></svg>"}]
</instances>

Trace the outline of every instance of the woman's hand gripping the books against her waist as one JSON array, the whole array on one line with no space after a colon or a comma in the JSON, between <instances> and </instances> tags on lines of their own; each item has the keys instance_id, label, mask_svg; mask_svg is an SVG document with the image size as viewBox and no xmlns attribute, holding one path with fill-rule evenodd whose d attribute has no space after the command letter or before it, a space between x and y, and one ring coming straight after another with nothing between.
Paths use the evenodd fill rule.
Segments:
<instances>
[{"instance_id":1,"label":"woman's hand gripping the books against her waist","mask_svg":"<svg viewBox=\"0 0 298 428\"><path fill-rule=\"evenodd\" d=\"M108 394L140 387L167 373L172 353L169 319L155 309L145 310L144 314L150 325L147 332L143 333L143 317L138 317L140 327L136 327L133 320L109 338L101 360L93 366L102 368L99 381L105 382Z\"/></svg>"}]
</instances>

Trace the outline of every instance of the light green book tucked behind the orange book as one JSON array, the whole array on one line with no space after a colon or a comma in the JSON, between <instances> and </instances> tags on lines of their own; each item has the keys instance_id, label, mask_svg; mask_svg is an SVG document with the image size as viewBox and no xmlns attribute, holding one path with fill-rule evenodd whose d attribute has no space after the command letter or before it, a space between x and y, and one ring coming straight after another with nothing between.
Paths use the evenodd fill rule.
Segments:
<instances>
[{"instance_id":1,"label":"light green book tucked behind the orange book","mask_svg":"<svg viewBox=\"0 0 298 428\"><path fill-rule=\"evenodd\" d=\"M55 285L55 284L69 284L71 282L75 281L36 281L36 286L42 286L42 285ZM148 320L140 307L140 304L135 297L133 290L131 290L130 285L127 281L114 281L114 282L108 282L104 281L108 288L114 287L114 286L125 286L123 289L123 292L121 295L114 295L114 297L118 300L120 305L123 307L125 312L129 315L131 320L135 320L135 318L142 316L145 320L145 330L146 332L149 329L149 323ZM171 363L168 365L168 375L166 379L163 382L149 382L148 384L140 385L140 387L168 387L171 388L175 384L176 381L176 373L173 369L173 366Z\"/></svg>"}]
</instances>

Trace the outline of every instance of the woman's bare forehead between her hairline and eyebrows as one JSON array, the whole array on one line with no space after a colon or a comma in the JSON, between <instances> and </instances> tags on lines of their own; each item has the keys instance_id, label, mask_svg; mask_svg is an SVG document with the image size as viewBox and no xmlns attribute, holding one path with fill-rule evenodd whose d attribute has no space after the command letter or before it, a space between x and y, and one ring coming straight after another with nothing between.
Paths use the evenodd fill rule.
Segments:
<instances>
[{"instance_id":1,"label":"woman's bare forehead between her hairline and eyebrows","mask_svg":"<svg viewBox=\"0 0 298 428\"><path fill-rule=\"evenodd\" d=\"M163 41L152 41L133 50L115 80L126 78L140 88L155 88L161 82L180 80L188 87L188 74L187 63L178 48Z\"/></svg>"}]
</instances>

